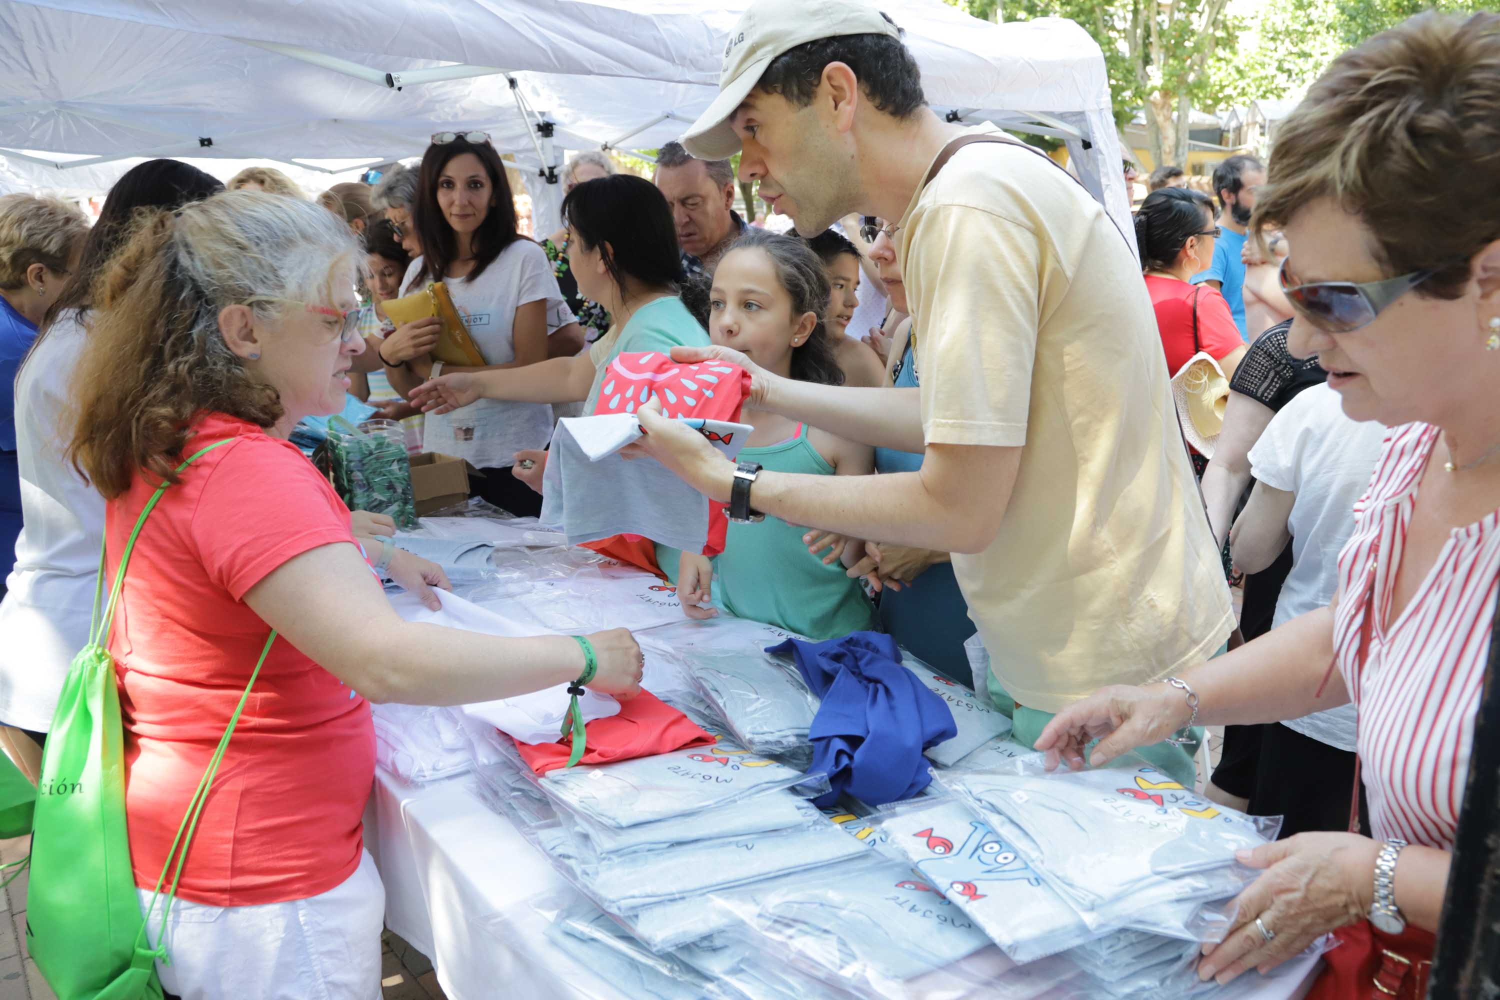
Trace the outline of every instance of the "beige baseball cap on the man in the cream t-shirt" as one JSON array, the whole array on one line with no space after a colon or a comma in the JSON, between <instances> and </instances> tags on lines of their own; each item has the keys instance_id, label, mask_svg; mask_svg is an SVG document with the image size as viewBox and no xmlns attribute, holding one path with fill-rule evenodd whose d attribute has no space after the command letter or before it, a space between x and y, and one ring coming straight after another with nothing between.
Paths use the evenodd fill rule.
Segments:
<instances>
[{"instance_id":1,"label":"beige baseball cap on the man in the cream t-shirt","mask_svg":"<svg viewBox=\"0 0 1500 1000\"><path fill-rule=\"evenodd\" d=\"M724 160L740 151L729 115L750 96L760 75L782 52L840 34L902 34L866 0L754 0L729 33L718 97L682 136L688 153Z\"/></svg>"}]
</instances>

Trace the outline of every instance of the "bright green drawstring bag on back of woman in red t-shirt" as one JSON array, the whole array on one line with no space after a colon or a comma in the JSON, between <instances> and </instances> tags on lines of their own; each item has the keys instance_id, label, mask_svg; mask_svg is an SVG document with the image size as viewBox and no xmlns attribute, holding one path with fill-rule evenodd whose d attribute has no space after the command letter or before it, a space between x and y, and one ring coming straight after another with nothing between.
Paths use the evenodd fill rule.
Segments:
<instances>
[{"instance_id":1,"label":"bright green drawstring bag on back of woman in red t-shirt","mask_svg":"<svg viewBox=\"0 0 1500 1000\"><path fill-rule=\"evenodd\" d=\"M180 466L228 441L202 448ZM156 960L170 963L165 940L150 946L146 916L130 871L130 841L124 829L124 742L120 730L120 693L114 657L104 648L124 585L135 540L147 516L162 499L162 483L146 504L114 576L110 603L99 618L104 589L104 547L99 550L99 591L94 594L88 645L74 658L52 714L42 753L42 780L36 789L32 828L32 877L26 898L26 946L58 1000L160 1000ZM261 660L244 685L230 726L188 802L188 813L166 853L147 916L162 895L168 870L171 889L162 904L162 928L171 912L183 859L192 843L208 786L230 745L250 685L276 642L272 631ZM180 849L180 850L178 850ZM176 868L172 859L176 858ZM164 934L165 939L165 934Z\"/></svg>"}]
</instances>

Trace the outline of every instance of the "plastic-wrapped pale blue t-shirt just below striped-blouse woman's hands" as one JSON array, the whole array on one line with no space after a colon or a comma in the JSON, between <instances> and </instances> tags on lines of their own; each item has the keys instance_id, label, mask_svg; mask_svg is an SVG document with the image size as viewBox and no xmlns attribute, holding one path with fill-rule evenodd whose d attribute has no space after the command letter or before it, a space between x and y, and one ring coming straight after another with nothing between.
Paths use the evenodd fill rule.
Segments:
<instances>
[{"instance_id":1,"label":"plastic-wrapped pale blue t-shirt just below striped-blouse woman's hands","mask_svg":"<svg viewBox=\"0 0 1500 1000\"><path fill-rule=\"evenodd\" d=\"M1089 771L1047 772L1042 754L939 781L980 816L1024 835L1028 861L1101 922L1186 900L1233 895L1254 873L1234 852L1275 838L1280 819L1250 817L1196 796L1136 754ZM1155 928L1152 928L1155 930Z\"/></svg>"}]
</instances>

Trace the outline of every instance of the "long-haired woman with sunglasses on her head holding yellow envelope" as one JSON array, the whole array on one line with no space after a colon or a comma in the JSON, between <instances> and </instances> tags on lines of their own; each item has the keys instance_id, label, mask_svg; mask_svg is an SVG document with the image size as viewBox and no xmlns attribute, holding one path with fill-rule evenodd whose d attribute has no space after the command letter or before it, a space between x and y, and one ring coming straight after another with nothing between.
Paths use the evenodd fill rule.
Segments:
<instances>
[{"instance_id":1,"label":"long-haired woman with sunglasses on her head holding yellow envelope","mask_svg":"<svg viewBox=\"0 0 1500 1000\"><path fill-rule=\"evenodd\" d=\"M422 157L412 220L423 256L404 282L410 294L442 282L484 364L460 373L524 369L548 358L548 334L573 322L552 265L516 229L516 205L500 153L483 132L440 132ZM406 393L444 370L429 339L440 324L398 328L378 349L386 375ZM512 475L516 453L544 448L552 436L546 403L486 399L462 415L435 414L423 447L465 459L480 471L474 492L519 516L542 513L542 498Z\"/></svg>"}]
</instances>

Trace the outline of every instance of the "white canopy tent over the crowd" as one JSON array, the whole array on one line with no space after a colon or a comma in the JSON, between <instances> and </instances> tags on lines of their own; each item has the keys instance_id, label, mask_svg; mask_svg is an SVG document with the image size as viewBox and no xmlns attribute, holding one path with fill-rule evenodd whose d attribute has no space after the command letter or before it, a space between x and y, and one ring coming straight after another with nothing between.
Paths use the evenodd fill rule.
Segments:
<instances>
[{"instance_id":1,"label":"white canopy tent over the crowd","mask_svg":"<svg viewBox=\"0 0 1500 1000\"><path fill-rule=\"evenodd\" d=\"M746 6L6 0L0 156L64 190L102 190L152 156L268 159L333 183L362 162L420 154L434 130L483 129L530 175L548 225L564 150L658 147L686 130ZM1088 33L1050 18L988 24L940 0L879 6L906 30L938 111L1066 139L1080 180L1128 223Z\"/></svg>"}]
</instances>

